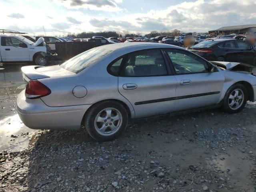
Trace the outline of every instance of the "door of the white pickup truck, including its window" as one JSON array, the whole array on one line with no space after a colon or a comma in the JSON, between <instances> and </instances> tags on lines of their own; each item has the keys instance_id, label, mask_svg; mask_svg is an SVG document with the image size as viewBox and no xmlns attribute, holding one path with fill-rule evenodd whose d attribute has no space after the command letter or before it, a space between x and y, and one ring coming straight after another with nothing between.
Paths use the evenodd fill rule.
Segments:
<instances>
[{"instance_id":1,"label":"door of the white pickup truck, including its window","mask_svg":"<svg viewBox=\"0 0 256 192\"><path fill-rule=\"evenodd\" d=\"M21 47L21 44L26 47ZM26 44L14 37L1 38L1 55L4 62L29 61L29 49Z\"/></svg>"}]
</instances>

